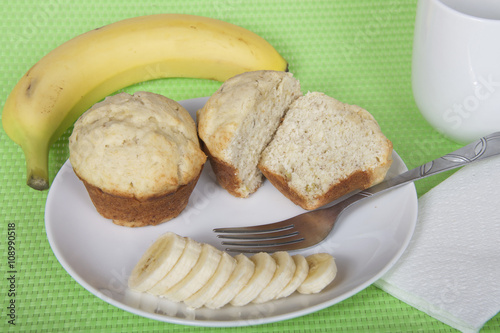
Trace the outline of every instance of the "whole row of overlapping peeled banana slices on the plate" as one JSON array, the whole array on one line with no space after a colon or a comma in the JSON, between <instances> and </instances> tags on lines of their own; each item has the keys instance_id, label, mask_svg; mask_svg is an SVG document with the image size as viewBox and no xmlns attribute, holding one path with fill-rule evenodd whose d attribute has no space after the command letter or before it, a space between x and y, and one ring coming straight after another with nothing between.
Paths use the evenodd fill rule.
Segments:
<instances>
[{"instance_id":1,"label":"whole row of overlapping peeled banana slices on the plate","mask_svg":"<svg viewBox=\"0 0 500 333\"><path fill-rule=\"evenodd\" d=\"M228 303L264 303L295 291L318 293L336 274L335 259L328 253L304 257L279 251L233 258L209 244L167 232L140 258L129 287L183 301L192 309L219 309Z\"/></svg>"}]
</instances>

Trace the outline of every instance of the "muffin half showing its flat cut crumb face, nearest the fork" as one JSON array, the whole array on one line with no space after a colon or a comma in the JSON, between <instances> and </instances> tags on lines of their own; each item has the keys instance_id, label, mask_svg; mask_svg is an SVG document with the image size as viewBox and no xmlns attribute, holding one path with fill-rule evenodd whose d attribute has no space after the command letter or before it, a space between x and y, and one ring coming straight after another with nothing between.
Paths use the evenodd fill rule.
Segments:
<instances>
[{"instance_id":1,"label":"muffin half showing its flat cut crumb face, nearest the fork","mask_svg":"<svg viewBox=\"0 0 500 333\"><path fill-rule=\"evenodd\" d=\"M311 210L381 182L391 153L370 113L310 92L290 106L258 167L286 197Z\"/></svg>"}]
</instances>

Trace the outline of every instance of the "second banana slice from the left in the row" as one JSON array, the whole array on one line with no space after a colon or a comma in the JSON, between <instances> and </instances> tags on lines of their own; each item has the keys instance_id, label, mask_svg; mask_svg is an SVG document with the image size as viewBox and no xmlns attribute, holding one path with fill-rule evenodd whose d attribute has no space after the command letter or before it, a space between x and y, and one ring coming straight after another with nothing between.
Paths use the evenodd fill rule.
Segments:
<instances>
[{"instance_id":1,"label":"second banana slice from the left in the row","mask_svg":"<svg viewBox=\"0 0 500 333\"><path fill-rule=\"evenodd\" d=\"M167 290L175 286L186 275L188 275L198 261L201 253L201 244L188 237L184 239L186 240L186 245L181 257L170 272L168 272L163 279L153 286L153 288L148 290L149 293L153 295L163 295L167 292Z\"/></svg>"}]
</instances>

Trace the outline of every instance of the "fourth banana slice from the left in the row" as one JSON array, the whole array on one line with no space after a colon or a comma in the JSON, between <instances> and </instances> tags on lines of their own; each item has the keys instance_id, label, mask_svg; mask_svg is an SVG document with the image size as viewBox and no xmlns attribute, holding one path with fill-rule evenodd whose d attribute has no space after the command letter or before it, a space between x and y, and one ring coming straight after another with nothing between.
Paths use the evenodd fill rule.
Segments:
<instances>
[{"instance_id":1,"label":"fourth banana slice from the left in the row","mask_svg":"<svg viewBox=\"0 0 500 333\"><path fill-rule=\"evenodd\" d=\"M197 309L202 307L224 286L234 268L236 267L236 259L231 257L226 252L222 252L222 257L219 266L214 275L208 282L196 293L184 300L184 303L190 308Z\"/></svg>"}]
</instances>

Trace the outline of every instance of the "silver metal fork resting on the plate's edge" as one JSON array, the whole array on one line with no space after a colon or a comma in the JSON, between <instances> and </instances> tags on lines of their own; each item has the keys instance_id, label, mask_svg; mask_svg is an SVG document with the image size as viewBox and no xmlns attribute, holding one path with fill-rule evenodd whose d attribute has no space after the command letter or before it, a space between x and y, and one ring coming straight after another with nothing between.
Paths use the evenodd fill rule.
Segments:
<instances>
[{"instance_id":1,"label":"silver metal fork resting on the plate's edge","mask_svg":"<svg viewBox=\"0 0 500 333\"><path fill-rule=\"evenodd\" d=\"M232 252L292 251L313 246L328 236L342 212L363 199L404 184L462 167L500 154L500 132L487 135L452 153L404 172L327 208L320 208L287 220L248 227L216 228L222 245ZM227 241L230 240L230 241Z\"/></svg>"}]
</instances>

